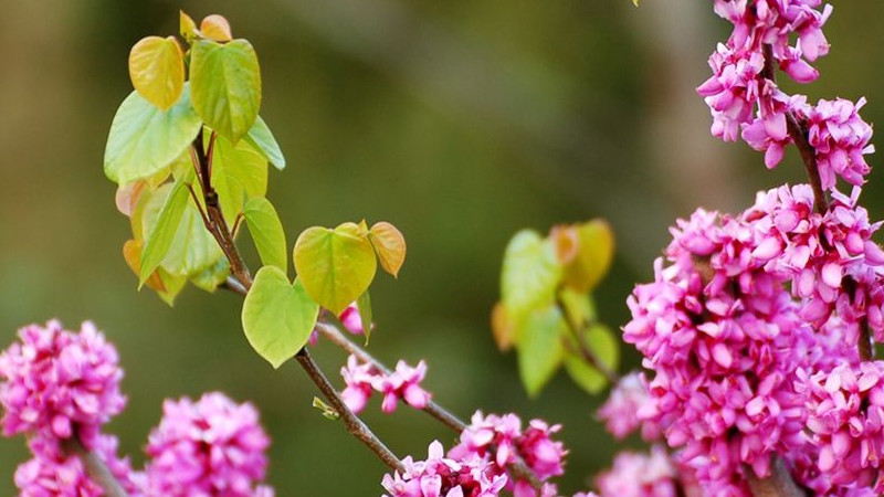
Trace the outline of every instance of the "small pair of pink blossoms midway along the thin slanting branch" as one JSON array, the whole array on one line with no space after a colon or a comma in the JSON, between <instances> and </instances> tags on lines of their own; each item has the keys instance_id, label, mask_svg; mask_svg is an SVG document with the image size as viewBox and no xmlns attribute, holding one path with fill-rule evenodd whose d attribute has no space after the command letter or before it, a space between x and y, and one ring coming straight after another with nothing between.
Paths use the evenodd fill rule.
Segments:
<instances>
[{"instance_id":1,"label":"small pair of pink blossoms midway along the thin slanting branch","mask_svg":"<svg viewBox=\"0 0 884 497\"><path fill-rule=\"evenodd\" d=\"M370 363L360 363L351 355L347 358L347 366L340 369L340 374L347 384L340 396L350 411L357 414L366 408L372 391L383 395L381 410L386 413L396 411L399 399L414 409L423 409L430 402L430 393L420 385L427 376L424 361L412 368L400 360L394 371L385 374Z\"/></svg>"}]
</instances>

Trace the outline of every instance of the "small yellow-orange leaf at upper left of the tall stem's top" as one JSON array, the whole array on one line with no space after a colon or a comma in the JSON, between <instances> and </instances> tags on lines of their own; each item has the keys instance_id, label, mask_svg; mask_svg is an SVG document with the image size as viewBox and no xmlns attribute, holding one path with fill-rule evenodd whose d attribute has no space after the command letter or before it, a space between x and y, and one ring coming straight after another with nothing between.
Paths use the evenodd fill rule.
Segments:
<instances>
[{"instance_id":1,"label":"small yellow-orange leaf at upper left of the tall stem's top","mask_svg":"<svg viewBox=\"0 0 884 497\"><path fill-rule=\"evenodd\" d=\"M129 78L135 91L162 110L185 88L185 54L175 36L143 38L129 52Z\"/></svg>"}]
</instances>

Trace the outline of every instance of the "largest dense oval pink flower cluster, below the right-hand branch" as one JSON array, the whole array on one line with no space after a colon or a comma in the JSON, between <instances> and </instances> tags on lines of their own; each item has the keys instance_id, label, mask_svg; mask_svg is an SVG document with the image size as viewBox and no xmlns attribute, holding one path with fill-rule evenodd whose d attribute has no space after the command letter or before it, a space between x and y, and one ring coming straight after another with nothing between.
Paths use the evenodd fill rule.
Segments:
<instances>
[{"instance_id":1,"label":"largest dense oval pink flower cluster, below the right-hand branch","mask_svg":"<svg viewBox=\"0 0 884 497\"><path fill-rule=\"evenodd\" d=\"M803 399L793 372L813 330L775 275L766 273L753 226L698 210L680 220L639 285L623 339L656 374L649 383L655 417L671 446L711 494L743 495L744 466L769 475L772 454L803 445Z\"/></svg>"}]
</instances>

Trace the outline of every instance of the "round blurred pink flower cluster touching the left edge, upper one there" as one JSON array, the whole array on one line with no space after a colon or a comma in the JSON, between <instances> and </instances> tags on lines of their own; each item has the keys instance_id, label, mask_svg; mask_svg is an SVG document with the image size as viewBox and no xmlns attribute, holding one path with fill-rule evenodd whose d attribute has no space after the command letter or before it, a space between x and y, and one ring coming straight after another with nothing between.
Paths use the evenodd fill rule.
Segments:
<instances>
[{"instance_id":1,"label":"round blurred pink flower cluster touching the left edge, upper one there","mask_svg":"<svg viewBox=\"0 0 884 497\"><path fill-rule=\"evenodd\" d=\"M55 320L31 325L19 338L0 355L3 434L77 435L91 448L98 427L126 404L116 349L92 322L78 334Z\"/></svg>"}]
</instances>

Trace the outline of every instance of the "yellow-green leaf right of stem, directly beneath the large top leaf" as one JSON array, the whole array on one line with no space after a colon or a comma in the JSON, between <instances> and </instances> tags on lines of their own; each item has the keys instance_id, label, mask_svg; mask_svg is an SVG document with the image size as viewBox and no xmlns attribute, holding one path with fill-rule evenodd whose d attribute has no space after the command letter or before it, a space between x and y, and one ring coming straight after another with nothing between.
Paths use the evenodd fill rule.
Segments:
<instances>
[{"instance_id":1,"label":"yellow-green leaf right of stem, directly beneath the large top leaf","mask_svg":"<svg viewBox=\"0 0 884 497\"><path fill-rule=\"evenodd\" d=\"M232 225L248 199L267 192L267 160L249 144L240 141L234 146L215 136L212 188L218 192L224 219Z\"/></svg>"}]
</instances>

